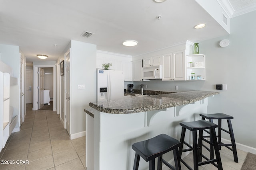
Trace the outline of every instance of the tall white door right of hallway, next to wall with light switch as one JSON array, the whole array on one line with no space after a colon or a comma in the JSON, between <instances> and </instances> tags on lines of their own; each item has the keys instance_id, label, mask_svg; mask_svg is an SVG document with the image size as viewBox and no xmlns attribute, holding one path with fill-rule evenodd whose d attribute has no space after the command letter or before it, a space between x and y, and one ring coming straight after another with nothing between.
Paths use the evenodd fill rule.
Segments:
<instances>
[{"instance_id":1,"label":"tall white door right of hallway, next to wall with light switch","mask_svg":"<svg viewBox=\"0 0 256 170\"><path fill-rule=\"evenodd\" d=\"M65 54L65 128L70 134L70 49Z\"/></svg>"}]
</instances>

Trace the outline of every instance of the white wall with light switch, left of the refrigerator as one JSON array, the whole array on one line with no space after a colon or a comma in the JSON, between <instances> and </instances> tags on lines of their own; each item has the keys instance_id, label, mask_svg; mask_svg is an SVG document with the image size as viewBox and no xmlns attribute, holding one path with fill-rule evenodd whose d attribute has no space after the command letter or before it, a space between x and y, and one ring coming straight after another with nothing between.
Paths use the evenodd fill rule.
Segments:
<instances>
[{"instance_id":1,"label":"white wall with light switch, left of the refrigerator","mask_svg":"<svg viewBox=\"0 0 256 170\"><path fill-rule=\"evenodd\" d=\"M96 45L71 41L71 139L85 132L84 108L96 101ZM85 89L78 90L78 84Z\"/></svg>"}]
</instances>

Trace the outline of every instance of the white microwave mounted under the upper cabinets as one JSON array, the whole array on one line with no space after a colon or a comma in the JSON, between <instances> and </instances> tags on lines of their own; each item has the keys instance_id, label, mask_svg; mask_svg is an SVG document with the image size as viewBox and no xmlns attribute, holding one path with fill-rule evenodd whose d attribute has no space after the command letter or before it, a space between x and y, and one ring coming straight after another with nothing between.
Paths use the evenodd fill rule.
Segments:
<instances>
[{"instance_id":1,"label":"white microwave mounted under the upper cabinets","mask_svg":"<svg viewBox=\"0 0 256 170\"><path fill-rule=\"evenodd\" d=\"M143 67L143 79L161 79L162 78L162 65Z\"/></svg>"}]
</instances>

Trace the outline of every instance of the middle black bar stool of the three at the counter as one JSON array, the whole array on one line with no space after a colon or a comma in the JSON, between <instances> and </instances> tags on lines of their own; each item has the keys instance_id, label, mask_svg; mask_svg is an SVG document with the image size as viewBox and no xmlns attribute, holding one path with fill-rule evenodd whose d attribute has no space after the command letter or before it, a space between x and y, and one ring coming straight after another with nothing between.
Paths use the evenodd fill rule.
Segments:
<instances>
[{"instance_id":1,"label":"middle black bar stool of the three at the counter","mask_svg":"<svg viewBox=\"0 0 256 170\"><path fill-rule=\"evenodd\" d=\"M181 146L179 148L179 156L180 156L180 161L190 170L192 168L184 161L181 159L182 152L187 152L193 150L193 158L194 158L194 170L198 170L198 167L204 164L213 164L216 166L219 170L223 170L222 168L222 163L220 159L220 151L218 149L218 142L216 138L216 132L215 128L218 127L218 125L208 122L206 120L198 120L198 121L191 121L191 122L182 122L180 123L182 126L182 132L181 132L181 137L180 137L180 142ZM185 133L186 129L192 131L192 138L193 138L193 146L189 145L185 139ZM209 159L206 156L202 154L202 141L203 141L203 130L204 129L210 129L210 137L212 137L212 142L208 141L210 145L213 145L215 154L216 154L216 159ZM199 137L197 141L197 131L199 131ZM183 145L186 145L189 147L189 149L183 149ZM206 159L206 161L202 162L202 157ZM214 163L214 162L217 162Z\"/></svg>"}]
</instances>

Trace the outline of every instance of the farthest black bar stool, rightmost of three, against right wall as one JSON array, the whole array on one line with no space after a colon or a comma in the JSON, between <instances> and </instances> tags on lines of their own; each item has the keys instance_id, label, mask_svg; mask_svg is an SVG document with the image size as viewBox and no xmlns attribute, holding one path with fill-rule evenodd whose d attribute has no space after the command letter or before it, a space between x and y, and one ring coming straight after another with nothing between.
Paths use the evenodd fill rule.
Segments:
<instances>
[{"instance_id":1,"label":"farthest black bar stool, rightmost of three, against right wall","mask_svg":"<svg viewBox=\"0 0 256 170\"><path fill-rule=\"evenodd\" d=\"M228 149L230 149L233 152L234 161L238 162L238 156L237 156L237 151L236 151L236 142L235 142L234 132L233 132L233 128L232 128L232 124L231 124L231 120L230 120L230 119L234 119L234 117L232 117L230 115L226 115L224 113L200 114L200 116L202 116L202 120L209 119L210 122L213 122L213 119L218 119L218 135L217 135L217 138L218 138L219 149L221 149L221 147L227 147ZM229 131L222 128L222 122L221 122L222 119L227 120ZM231 144L222 143L222 141L221 141L221 132L222 131L224 131L226 133L229 133L230 139L231 139ZM208 133L208 131L206 131L206 132ZM204 137L208 137L208 136L204 136ZM229 146L231 146L232 148L230 148ZM211 155L211 157L213 157L212 147L210 148L210 155Z\"/></svg>"}]
</instances>

